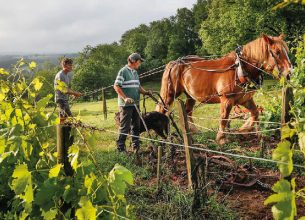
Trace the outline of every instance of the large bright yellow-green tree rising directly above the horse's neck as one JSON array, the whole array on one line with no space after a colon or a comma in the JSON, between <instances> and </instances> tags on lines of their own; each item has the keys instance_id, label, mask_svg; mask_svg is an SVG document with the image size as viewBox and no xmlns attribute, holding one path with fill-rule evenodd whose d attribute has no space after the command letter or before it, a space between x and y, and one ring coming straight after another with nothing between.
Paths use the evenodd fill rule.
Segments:
<instances>
[{"instance_id":1,"label":"large bright yellow-green tree rising directly above the horse's neck","mask_svg":"<svg viewBox=\"0 0 305 220\"><path fill-rule=\"evenodd\" d=\"M277 0L213 0L202 22L200 38L210 54L225 54L261 33L286 32L285 19L271 8Z\"/></svg>"}]
</instances>

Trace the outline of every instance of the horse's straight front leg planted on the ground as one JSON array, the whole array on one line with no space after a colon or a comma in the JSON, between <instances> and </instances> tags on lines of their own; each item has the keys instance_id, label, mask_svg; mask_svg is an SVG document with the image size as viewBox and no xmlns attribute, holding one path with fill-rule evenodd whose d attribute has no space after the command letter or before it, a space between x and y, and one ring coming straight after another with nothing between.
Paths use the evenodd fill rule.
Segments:
<instances>
[{"instance_id":1,"label":"horse's straight front leg planted on the ground","mask_svg":"<svg viewBox=\"0 0 305 220\"><path fill-rule=\"evenodd\" d=\"M221 98L220 100L220 125L219 131L216 136L216 142L219 144L225 144L227 140L225 139L225 128L228 124L228 118L230 115L230 111L234 105L234 101L228 98Z\"/></svg>"}]
</instances>

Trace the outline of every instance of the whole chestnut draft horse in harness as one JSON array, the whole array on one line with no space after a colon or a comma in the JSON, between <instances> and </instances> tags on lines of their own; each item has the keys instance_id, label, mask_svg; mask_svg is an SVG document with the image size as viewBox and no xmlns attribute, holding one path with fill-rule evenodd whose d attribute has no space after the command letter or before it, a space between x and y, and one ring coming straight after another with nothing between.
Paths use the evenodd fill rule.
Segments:
<instances>
[{"instance_id":1,"label":"whole chestnut draft horse in harness","mask_svg":"<svg viewBox=\"0 0 305 220\"><path fill-rule=\"evenodd\" d=\"M221 103L220 128L216 140L223 142L227 119L234 105L242 105L251 112L251 117L240 131L253 129L258 120L258 110L253 101L255 90L246 91L249 82L258 83L260 68L268 73L276 69L279 75L289 79L292 69L287 55L288 47L283 35L270 37L263 35L246 45L239 52L231 52L222 58L205 60L189 56L171 61L165 67L160 95L166 108L157 105L156 110L165 113L174 99L185 93L185 103L189 122L195 102ZM195 127L190 124L194 131Z\"/></svg>"}]
</instances>

